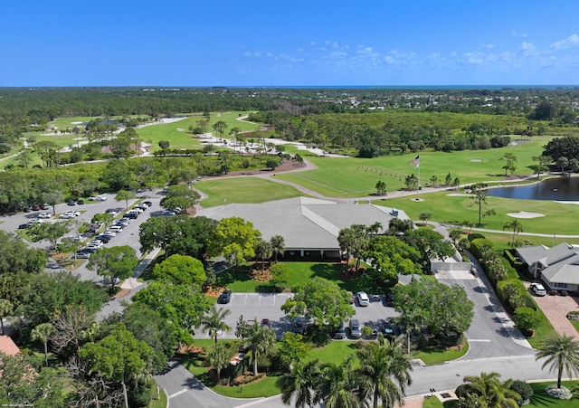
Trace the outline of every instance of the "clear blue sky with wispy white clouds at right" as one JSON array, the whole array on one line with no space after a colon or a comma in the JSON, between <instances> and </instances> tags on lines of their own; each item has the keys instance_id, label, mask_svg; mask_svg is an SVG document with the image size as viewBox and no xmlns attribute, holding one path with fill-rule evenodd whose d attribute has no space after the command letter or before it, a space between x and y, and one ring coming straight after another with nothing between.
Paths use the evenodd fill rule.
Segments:
<instances>
[{"instance_id":1,"label":"clear blue sky with wispy white clouds at right","mask_svg":"<svg viewBox=\"0 0 579 408\"><path fill-rule=\"evenodd\" d=\"M0 86L575 85L574 0L5 0Z\"/></svg>"}]
</instances>

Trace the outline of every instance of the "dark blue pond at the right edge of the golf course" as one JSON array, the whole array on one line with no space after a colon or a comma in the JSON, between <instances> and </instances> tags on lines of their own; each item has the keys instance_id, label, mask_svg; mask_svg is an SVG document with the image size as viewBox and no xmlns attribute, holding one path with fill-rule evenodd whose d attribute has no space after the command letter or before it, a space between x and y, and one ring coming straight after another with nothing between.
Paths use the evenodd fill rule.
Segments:
<instances>
[{"instance_id":1,"label":"dark blue pond at the right edge of the golf course","mask_svg":"<svg viewBox=\"0 0 579 408\"><path fill-rule=\"evenodd\" d=\"M494 197L521 200L579 201L579 177L548 178L534 185L492 188Z\"/></svg>"}]
</instances>

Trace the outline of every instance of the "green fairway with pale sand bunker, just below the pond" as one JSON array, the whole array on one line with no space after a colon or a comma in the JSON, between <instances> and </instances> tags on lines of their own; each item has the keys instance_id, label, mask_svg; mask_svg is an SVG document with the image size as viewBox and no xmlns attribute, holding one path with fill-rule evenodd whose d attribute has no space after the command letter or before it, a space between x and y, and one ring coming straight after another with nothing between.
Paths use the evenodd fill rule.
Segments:
<instances>
[{"instance_id":1,"label":"green fairway with pale sand bunker, just below the pond","mask_svg":"<svg viewBox=\"0 0 579 408\"><path fill-rule=\"evenodd\" d=\"M386 198L375 200L374 204L403 209L414 221L419 220L420 213L431 213L432 221L440 223L456 224L465 220L470 221L470 223L478 223L479 221L479 208L477 205L472 205L474 202L468 195L441 192L421 195L423 201L420 202L413 201L413 198L413 196ZM561 204L546 200L516 200L493 196L489 196L487 202L487 208L495 210L496 215L482 219L486 229L501 231L505 223L515 219L508 216L507 213L526 211L544 213L545 216L517 218L523 224L524 232L546 233L549 236L553 233L558 235L579 233L574 223L569 222L569 220L574 220L579 216L579 205L577 204ZM507 236L512 238L512 235ZM518 236L525 237L523 234Z\"/></svg>"}]
</instances>

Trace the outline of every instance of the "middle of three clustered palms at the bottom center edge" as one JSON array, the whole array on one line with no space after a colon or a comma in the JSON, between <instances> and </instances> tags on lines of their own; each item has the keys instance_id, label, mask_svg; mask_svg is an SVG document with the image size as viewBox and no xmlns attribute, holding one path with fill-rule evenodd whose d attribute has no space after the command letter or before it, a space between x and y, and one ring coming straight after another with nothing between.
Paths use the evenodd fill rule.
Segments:
<instances>
[{"instance_id":1,"label":"middle of three clustered palms at the bottom center edge","mask_svg":"<svg viewBox=\"0 0 579 408\"><path fill-rule=\"evenodd\" d=\"M327 408L365 408L368 406L367 380L363 375L356 375L352 367L353 357L349 356L344 363L327 363L320 367L320 378L316 403L323 401Z\"/></svg>"}]
</instances>

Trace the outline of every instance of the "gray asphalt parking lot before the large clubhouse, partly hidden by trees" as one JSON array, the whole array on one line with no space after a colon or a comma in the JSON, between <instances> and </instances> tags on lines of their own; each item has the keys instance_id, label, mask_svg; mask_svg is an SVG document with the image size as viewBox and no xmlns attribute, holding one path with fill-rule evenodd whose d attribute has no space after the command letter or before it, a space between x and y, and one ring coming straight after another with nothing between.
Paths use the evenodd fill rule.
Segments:
<instances>
[{"instance_id":1,"label":"gray asphalt parking lot before the large clubhouse, partly hidden by trees","mask_svg":"<svg viewBox=\"0 0 579 408\"><path fill-rule=\"evenodd\" d=\"M220 333L219 338L235 337L235 327L240 316L249 322L255 320L261 322L262 318L269 318L271 327L275 330L276 336L280 338L291 327L290 319L280 307L286 299L291 297L293 297L291 293L233 293L229 303L217 305L218 308L231 310L231 314L225 318L225 322L232 329L226 333ZM357 318L363 326L367 324L380 329L386 320L398 316L394 308L385 305L384 295L370 295L369 306L360 307L357 306L357 303L352 305L356 312L354 318ZM203 333L202 327L200 327L195 330L195 337L209 338L209 335Z\"/></svg>"}]
</instances>

